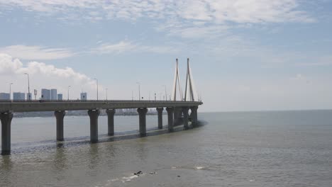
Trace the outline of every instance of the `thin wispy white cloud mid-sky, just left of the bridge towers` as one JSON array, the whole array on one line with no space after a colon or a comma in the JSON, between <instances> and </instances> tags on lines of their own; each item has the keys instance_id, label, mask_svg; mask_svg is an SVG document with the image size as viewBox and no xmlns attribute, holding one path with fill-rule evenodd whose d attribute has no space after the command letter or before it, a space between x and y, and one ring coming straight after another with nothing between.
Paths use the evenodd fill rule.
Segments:
<instances>
[{"instance_id":1,"label":"thin wispy white cloud mid-sky, just left of the bridge towers","mask_svg":"<svg viewBox=\"0 0 332 187\"><path fill-rule=\"evenodd\" d=\"M117 43L104 43L91 50L95 54L119 54L122 52L175 53L178 51L175 47L140 45L127 40Z\"/></svg>"}]
</instances>

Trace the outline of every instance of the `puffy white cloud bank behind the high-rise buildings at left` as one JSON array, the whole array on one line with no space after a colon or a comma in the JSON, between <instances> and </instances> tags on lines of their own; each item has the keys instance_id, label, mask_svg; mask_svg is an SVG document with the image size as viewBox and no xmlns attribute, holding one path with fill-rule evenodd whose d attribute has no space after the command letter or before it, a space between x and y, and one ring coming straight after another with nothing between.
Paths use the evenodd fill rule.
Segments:
<instances>
[{"instance_id":1,"label":"puffy white cloud bank behind the high-rise buildings at left","mask_svg":"<svg viewBox=\"0 0 332 187\"><path fill-rule=\"evenodd\" d=\"M0 79L2 91L7 91L9 82L13 82L13 91L26 92L26 77L24 73L28 73L31 79L31 89L55 88L67 96L67 86L72 86L71 92L73 98L79 96L79 91L89 91L92 95L89 98L94 98L96 89L96 82L94 79L88 77L86 74L76 72L70 67L58 68L52 64L45 64L43 62L28 62L23 63L11 55L0 53ZM102 89L103 86L99 86ZM39 93L40 94L40 93Z\"/></svg>"}]
</instances>

